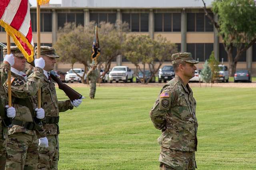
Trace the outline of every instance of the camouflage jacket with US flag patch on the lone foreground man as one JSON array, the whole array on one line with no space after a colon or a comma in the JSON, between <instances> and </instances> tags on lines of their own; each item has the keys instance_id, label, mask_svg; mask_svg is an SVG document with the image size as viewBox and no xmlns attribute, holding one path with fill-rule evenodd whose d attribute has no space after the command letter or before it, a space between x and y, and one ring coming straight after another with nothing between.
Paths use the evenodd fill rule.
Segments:
<instances>
[{"instance_id":1,"label":"camouflage jacket with US flag patch on the lone foreground man","mask_svg":"<svg viewBox=\"0 0 256 170\"><path fill-rule=\"evenodd\" d=\"M191 88L175 76L160 91L150 110L151 120L162 131L158 143L164 148L196 151L196 100Z\"/></svg>"}]
</instances>

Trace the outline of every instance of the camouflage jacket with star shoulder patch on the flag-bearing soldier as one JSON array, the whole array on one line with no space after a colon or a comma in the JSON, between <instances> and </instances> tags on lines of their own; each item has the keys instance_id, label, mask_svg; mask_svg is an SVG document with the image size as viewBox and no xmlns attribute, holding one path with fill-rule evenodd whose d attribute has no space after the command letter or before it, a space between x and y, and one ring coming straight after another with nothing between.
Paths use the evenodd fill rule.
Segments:
<instances>
[{"instance_id":1,"label":"camouflage jacket with star shoulder patch on the flag-bearing soldier","mask_svg":"<svg viewBox=\"0 0 256 170\"><path fill-rule=\"evenodd\" d=\"M14 98L29 98L30 102L33 105L33 108L35 109L37 106L34 96L38 92L38 88L42 82L42 68L35 67L33 74L31 74L27 78L27 80L25 80L23 76L15 74L14 72L12 72L11 74L12 100L14 100ZM5 86L7 89L8 85L5 84ZM20 120L25 122L33 121L30 109L28 107L22 106L20 104L13 104L13 107L16 110L16 117L14 118L14 120ZM36 135L36 133L38 133L35 130L29 130L25 127L18 125L13 125L12 127L8 128L8 135L12 135L13 133L18 132L24 132L28 135Z\"/></svg>"}]
</instances>

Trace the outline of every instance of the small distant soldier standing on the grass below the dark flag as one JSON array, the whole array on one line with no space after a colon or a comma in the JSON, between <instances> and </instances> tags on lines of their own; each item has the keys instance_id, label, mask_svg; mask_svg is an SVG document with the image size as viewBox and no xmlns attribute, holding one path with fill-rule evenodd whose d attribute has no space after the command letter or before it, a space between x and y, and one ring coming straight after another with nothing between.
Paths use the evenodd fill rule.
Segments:
<instances>
[{"instance_id":1,"label":"small distant soldier standing on the grass below the dark flag","mask_svg":"<svg viewBox=\"0 0 256 170\"><path fill-rule=\"evenodd\" d=\"M99 77L99 72L96 69L95 61L92 61L90 66L91 66L91 68L87 73L87 78L88 78L89 83L90 83L90 98L94 99L95 92L96 92L96 82L97 82L98 77Z\"/></svg>"}]
</instances>

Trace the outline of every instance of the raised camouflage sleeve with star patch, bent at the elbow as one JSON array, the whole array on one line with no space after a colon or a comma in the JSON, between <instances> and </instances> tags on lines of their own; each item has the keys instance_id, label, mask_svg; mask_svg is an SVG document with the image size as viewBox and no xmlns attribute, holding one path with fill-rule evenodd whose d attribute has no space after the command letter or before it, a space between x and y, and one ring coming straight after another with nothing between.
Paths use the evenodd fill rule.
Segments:
<instances>
[{"instance_id":1,"label":"raised camouflage sleeve with star patch, bent at the elbow","mask_svg":"<svg viewBox=\"0 0 256 170\"><path fill-rule=\"evenodd\" d=\"M12 80L12 96L17 98L28 98L34 96L38 92L40 84L43 80L43 69L35 67L34 72L28 76L26 83L18 81L17 78ZM17 80L16 80L17 79Z\"/></svg>"}]
</instances>

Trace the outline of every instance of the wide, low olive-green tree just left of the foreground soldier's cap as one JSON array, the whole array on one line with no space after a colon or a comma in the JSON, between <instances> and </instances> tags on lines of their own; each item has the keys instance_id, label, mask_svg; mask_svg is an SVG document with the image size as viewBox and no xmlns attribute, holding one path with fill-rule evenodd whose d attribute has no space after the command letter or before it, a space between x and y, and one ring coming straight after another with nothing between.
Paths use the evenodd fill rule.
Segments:
<instances>
[{"instance_id":1,"label":"wide, low olive-green tree just left of the foreground soldier's cap","mask_svg":"<svg viewBox=\"0 0 256 170\"><path fill-rule=\"evenodd\" d=\"M153 40L148 35L130 35L123 48L123 55L142 72L143 78L140 81L142 84L147 84L158 72L163 62L170 60L172 53L176 52L176 46L162 36ZM145 82L146 65L149 67L151 76ZM138 71L136 75L138 76Z\"/></svg>"}]
</instances>

